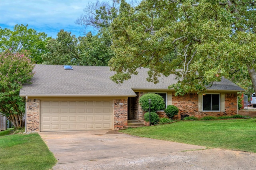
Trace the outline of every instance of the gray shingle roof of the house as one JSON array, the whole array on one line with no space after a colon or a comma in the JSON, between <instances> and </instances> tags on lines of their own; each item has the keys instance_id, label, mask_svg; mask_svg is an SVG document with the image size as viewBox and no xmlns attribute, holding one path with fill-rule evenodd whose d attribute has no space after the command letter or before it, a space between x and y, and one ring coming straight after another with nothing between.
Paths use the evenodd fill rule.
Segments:
<instances>
[{"instance_id":1,"label":"gray shingle roof of the house","mask_svg":"<svg viewBox=\"0 0 256 170\"><path fill-rule=\"evenodd\" d=\"M160 77L157 84L146 81L148 69L138 69L138 75L122 85L110 80L114 72L109 67L73 66L65 70L63 65L36 65L32 84L24 84L20 96L136 96L133 89L168 89L176 83L174 75ZM243 91L234 83L223 79L210 89Z\"/></svg>"}]
</instances>

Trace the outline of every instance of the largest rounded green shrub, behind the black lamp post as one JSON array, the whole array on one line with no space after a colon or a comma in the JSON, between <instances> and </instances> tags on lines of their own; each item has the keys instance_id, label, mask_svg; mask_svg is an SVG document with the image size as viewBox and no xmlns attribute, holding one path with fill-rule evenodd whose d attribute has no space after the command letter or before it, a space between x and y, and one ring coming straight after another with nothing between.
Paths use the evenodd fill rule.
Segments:
<instances>
[{"instance_id":1,"label":"largest rounded green shrub, behind the black lamp post","mask_svg":"<svg viewBox=\"0 0 256 170\"><path fill-rule=\"evenodd\" d=\"M148 112L149 111L149 103L148 99L151 99L151 105L150 110L151 111L160 111L163 110L165 107L164 98L162 98L160 95L155 93L147 93L140 97L140 106L142 110Z\"/></svg>"}]
</instances>

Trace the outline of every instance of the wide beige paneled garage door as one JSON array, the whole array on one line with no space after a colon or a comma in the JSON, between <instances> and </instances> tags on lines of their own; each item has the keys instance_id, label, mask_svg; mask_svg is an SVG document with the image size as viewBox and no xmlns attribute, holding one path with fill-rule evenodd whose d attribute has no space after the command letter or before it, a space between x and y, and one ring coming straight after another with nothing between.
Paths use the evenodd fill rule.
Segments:
<instances>
[{"instance_id":1,"label":"wide beige paneled garage door","mask_svg":"<svg viewBox=\"0 0 256 170\"><path fill-rule=\"evenodd\" d=\"M42 100L40 131L111 130L112 100Z\"/></svg>"}]
</instances>

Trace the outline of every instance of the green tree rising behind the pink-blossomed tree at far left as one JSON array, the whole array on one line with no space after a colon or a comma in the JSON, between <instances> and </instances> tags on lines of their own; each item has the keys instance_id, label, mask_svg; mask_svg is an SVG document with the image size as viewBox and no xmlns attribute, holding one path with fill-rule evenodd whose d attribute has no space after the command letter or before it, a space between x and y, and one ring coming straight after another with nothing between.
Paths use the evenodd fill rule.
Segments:
<instances>
[{"instance_id":1,"label":"green tree rising behind the pink-blossomed tree at far left","mask_svg":"<svg viewBox=\"0 0 256 170\"><path fill-rule=\"evenodd\" d=\"M35 63L42 63L41 55L47 52L46 42L50 38L44 32L36 32L28 25L16 25L13 31L4 28L0 29L0 52L10 49L13 53L21 50L29 50L30 58Z\"/></svg>"}]
</instances>

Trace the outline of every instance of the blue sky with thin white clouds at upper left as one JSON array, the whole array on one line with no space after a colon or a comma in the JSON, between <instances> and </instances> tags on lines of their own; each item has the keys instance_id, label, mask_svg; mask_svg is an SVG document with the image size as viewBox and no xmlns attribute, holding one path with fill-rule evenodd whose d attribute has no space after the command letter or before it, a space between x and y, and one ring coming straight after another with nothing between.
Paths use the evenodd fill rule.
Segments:
<instances>
[{"instance_id":1,"label":"blue sky with thin white clouds at upper left","mask_svg":"<svg viewBox=\"0 0 256 170\"><path fill-rule=\"evenodd\" d=\"M88 2L96 0L0 0L0 27L13 30L16 24L28 24L28 28L52 38L61 29L83 36L82 27L74 22Z\"/></svg>"}]
</instances>

